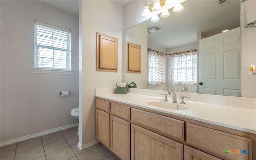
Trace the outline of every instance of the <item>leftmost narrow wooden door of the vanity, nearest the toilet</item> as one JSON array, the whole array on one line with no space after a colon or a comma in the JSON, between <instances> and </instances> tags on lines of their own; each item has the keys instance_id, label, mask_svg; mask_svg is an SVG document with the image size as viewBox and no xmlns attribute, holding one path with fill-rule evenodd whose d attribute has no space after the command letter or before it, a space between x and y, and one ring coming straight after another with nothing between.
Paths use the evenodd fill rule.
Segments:
<instances>
[{"instance_id":1,"label":"leftmost narrow wooden door of the vanity, nearest the toilet","mask_svg":"<svg viewBox=\"0 0 256 160\"><path fill-rule=\"evenodd\" d=\"M110 148L110 114L96 109L96 138Z\"/></svg>"}]
</instances>

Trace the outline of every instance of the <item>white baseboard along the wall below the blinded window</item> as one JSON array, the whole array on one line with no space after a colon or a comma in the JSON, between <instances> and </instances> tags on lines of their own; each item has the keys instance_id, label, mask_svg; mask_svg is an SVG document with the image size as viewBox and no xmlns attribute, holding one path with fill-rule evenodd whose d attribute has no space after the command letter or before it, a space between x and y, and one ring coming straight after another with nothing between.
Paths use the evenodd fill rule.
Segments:
<instances>
[{"instance_id":1,"label":"white baseboard along the wall below the blinded window","mask_svg":"<svg viewBox=\"0 0 256 160\"><path fill-rule=\"evenodd\" d=\"M65 130L65 129L76 127L76 126L78 126L78 123L70 124L70 125L67 125L67 126L59 127L59 128L54 128L54 129L51 129L51 130L46 130L46 131L35 133L35 134L30 134L28 136L19 137L19 138L15 138L15 139L12 139L12 140L7 140L7 141L4 141L4 142L0 142L0 146L1 147L2 146L7 146L9 144L14 144L16 142L28 140L30 138L44 136L44 135L47 135L47 134L50 134L50 133L58 132L60 130Z\"/></svg>"}]
</instances>

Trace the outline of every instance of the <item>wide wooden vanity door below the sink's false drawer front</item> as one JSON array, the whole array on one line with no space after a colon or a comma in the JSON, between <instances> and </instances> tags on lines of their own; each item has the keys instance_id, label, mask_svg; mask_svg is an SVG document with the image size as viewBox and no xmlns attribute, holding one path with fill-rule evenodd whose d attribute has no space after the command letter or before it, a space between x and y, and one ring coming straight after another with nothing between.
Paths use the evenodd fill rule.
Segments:
<instances>
[{"instance_id":1,"label":"wide wooden vanity door below the sink's false drawer front","mask_svg":"<svg viewBox=\"0 0 256 160\"><path fill-rule=\"evenodd\" d=\"M183 160L183 144L131 124L131 160Z\"/></svg>"}]
</instances>

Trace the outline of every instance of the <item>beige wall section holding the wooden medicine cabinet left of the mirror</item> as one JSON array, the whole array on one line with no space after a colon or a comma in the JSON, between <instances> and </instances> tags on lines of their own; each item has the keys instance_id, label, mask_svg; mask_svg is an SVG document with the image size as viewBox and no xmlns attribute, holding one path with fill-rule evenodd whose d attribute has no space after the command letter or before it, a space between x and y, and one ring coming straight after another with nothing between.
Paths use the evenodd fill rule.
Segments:
<instances>
[{"instance_id":1,"label":"beige wall section holding the wooden medicine cabinet left of the mirror","mask_svg":"<svg viewBox=\"0 0 256 160\"><path fill-rule=\"evenodd\" d=\"M115 87L122 82L122 6L114 1L80 2L80 123L78 146L84 148L96 140L95 88ZM96 71L96 32L118 38L118 72ZM82 42L81 42L82 41ZM82 44L82 46L81 46Z\"/></svg>"}]
</instances>

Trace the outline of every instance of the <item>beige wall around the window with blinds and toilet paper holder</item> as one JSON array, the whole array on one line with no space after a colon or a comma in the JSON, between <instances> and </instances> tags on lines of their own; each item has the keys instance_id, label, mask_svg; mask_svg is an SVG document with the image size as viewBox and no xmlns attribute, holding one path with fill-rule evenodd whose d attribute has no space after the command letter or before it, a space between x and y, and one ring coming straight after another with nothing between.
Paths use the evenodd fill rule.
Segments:
<instances>
[{"instance_id":1,"label":"beige wall around the window with blinds and toilet paper holder","mask_svg":"<svg viewBox=\"0 0 256 160\"><path fill-rule=\"evenodd\" d=\"M78 16L39 1L1 1L1 143L75 124ZM47 12L46 12L47 10ZM34 20L71 30L74 74L35 74ZM67 97L59 91L69 90Z\"/></svg>"}]
</instances>

